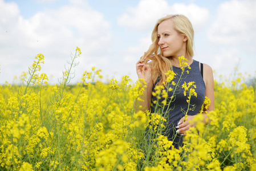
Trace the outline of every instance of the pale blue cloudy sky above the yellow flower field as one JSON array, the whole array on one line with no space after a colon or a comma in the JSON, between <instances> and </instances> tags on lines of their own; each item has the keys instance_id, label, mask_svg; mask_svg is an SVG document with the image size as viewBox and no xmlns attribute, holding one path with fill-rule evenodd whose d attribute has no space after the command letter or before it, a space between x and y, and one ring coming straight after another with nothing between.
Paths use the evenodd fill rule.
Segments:
<instances>
[{"instance_id":1,"label":"pale blue cloudy sky above the yellow flower field","mask_svg":"<svg viewBox=\"0 0 256 171\"><path fill-rule=\"evenodd\" d=\"M84 71L102 70L103 81L137 80L135 64L148 50L157 20L183 14L194 28L194 57L214 78L234 68L255 75L255 0L0 0L0 84L15 83L39 53L50 84L58 83L76 47L82 55L71 83Z\"/></svg>"}]
</instances>

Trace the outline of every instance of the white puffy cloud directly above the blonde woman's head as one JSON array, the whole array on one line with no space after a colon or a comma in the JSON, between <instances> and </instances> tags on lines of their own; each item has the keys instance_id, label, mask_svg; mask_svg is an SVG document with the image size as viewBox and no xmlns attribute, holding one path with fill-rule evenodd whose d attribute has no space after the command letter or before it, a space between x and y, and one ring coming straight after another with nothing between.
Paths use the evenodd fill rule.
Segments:
<instances>
[{"instance_id":1,"label":"white puffy cloud directly above the blonde woman's head","mask_svg":"<svg viewBox=\"0 0 256 171\"><path fill-rule=\"evenodd\" d=\"M137 7L127 9L118 18L118 23L120 26L135 28L139 31L152 31L157 19L166 14L186 15L196 30L200 30L209 17L208 9L194 4L174 3L170 6L165 0L141 0Z\"/></svg>"}]
</instances>

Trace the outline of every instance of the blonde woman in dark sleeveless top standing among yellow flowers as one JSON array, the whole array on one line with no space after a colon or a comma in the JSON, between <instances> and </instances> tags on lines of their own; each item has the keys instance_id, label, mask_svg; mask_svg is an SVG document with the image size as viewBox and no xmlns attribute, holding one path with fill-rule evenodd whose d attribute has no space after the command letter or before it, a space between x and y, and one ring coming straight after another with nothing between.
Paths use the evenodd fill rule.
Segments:
<instances>
[{"instance_id":1,"label":"blonde woman in dark sleeveless top standing among yellow flowers","mask_svg":"<svg viewBox=\"0 0 256 171\"><path fill-rule=\"evenodd\" d=\"M158 112L159 106L152 103L157 98L152 96L152 91L155 91L157 85L164 85L168 70L176 73L173 81L176 85L170 85L174 92L174 100L170 99L173 91L168 92L169 101L172 101L168 107L164 106L162 110L168 116L169 130L164 135L168 136L169 140L174 142L174 147L182 145L182 136L186 135L189 127L194 127L189 121L200 112L205 96L209 97L211 103L208 111L214 110L214 89L213 89L213 71L207 64L201 64L193 60L193 37L194 31L189 19L184 15L167 15L159 19L152 32L152 44L149 50L136 63L136 71L139 79L144 79L147 83L144 95L141 95L143 101L136 101L135 108L143 111L151 110L152 113ZM184 56L188 61L188 65L184 66L185 71L181 75L181 68L178 57ZM150 61L150 62L149 62ZM191 69L189 69L191 67ZM189 74L188 74L189 73ZM180 82L179 77L181 76ZM194 82L196 84L195 91L197 97L192 96L190 99L191 109L188 109L188 103L182 90L182 84ZM177 85L177 83L179 83ZM165 89L169 87L165 86ZM160 99L161 101L161 99ZM140 108L139 108L140 106ZM188 119L185 120L184 111L188 109ZM204 122L208 124L206 111L204 114ZM185 121L184 121L185 120ZM174 128L174 129L172 129ZM175 136L176 133L181 136Z\"/></svg>"}]
</instances>

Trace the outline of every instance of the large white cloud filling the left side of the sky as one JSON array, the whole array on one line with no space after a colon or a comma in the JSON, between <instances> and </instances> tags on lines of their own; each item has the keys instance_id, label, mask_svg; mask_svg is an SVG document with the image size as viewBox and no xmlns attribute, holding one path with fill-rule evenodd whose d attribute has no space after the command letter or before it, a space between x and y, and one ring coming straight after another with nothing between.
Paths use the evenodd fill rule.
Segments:
<instances>
[{"instance_id":1,"label":"large white cloud filling the left side of the sky","mask_svg":"<svg viewBox=\"0 0 256 171\"><path fill-rule=\"evenodd\" d=\"M82 50L79 61L83 66L77 67L78 73L90 69L87 66L94 61L99 68L107 63L110 24L86 3L76 2L25 19L15 3L0 0L0 16L0 83L11 82L13 72L27 71L38 53L45 56L44 71L58 77L76 46Z\"/></svg>"}]
</instances>

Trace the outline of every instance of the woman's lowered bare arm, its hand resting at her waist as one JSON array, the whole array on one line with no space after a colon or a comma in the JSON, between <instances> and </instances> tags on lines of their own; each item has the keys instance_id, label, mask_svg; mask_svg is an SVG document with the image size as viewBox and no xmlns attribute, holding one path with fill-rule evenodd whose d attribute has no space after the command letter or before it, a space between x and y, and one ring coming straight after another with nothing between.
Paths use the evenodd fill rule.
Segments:
<instances>
[{"instance_id":1,"label":"woman's lowered bare arm, its hand resting at her waist","mask_svg":"<svg viewBox=\"0 0 256 171\"><path fill-rule=\"evenodd\" d=\"M214 79L213 79L213 70L210 66L207 64L204 64L204 82L205 82L205 96L207 96L211 103L208 107L207 113L210 111L214 111ZM204 120L202 120L205 124L209 123L209 117L207 116L206 111L203 113L204 115ZM182 117L180 119L180 124L177 126L177 132L184 134L186 131L189 130L189 127L194 127L194 124L190 124L189 121L194 118L194 116L189 116L188 115L188 120L186 120L184 123L185 117Z\"/></svg>"}]
</instances>

